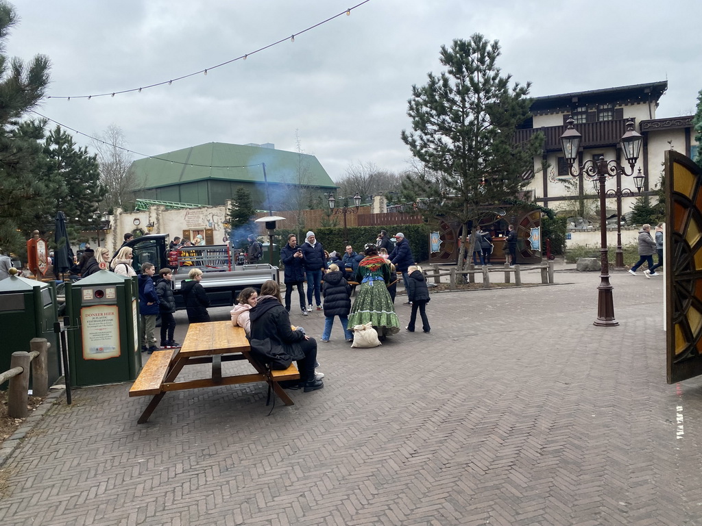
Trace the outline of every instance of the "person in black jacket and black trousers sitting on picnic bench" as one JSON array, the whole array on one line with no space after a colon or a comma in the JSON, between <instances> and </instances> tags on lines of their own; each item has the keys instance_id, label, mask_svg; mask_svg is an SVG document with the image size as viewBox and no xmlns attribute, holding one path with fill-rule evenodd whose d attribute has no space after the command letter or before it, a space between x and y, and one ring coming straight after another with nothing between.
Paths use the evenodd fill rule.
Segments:
<instances>
[{"instance_id":1,"label":"person in black jacket and black trousers sitting on picnic bench","mask_svg":"<svg viewBox=\"0 0 702 526\"><path fill-rule=\"evenodd\" d=\"M249 311L251 339L270 339L271 347L282 347L298 364L300 380L280 382L286 389L300 389L305 393L324 387L314 375L317 363L317 340L300 330L293 330L290 316L280 299L280 287L268 280L261 285L256 306Z\"/></svg>"}]
</instances>

